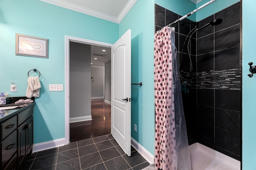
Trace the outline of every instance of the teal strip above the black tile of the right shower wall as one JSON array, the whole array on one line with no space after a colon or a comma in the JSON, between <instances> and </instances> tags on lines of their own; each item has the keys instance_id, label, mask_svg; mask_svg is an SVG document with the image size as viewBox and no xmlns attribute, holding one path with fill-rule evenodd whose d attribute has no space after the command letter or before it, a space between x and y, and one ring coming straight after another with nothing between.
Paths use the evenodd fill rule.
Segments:
<instances>
[{"instance_id":1,"label":"teal strip above the black tile of the right shower wall","mask_svg":"<svg viewBox=\"0 0 256 170\"><path fill-rule=\"evenodd\" d=\"M209 1L210 0L202 0L201 2L196 4L196 8L199 8L200 6L204 5ZM202 8L194 14L196 15L196 21L201 21L204 18L211 16L212 14L215 14L233 4L236 4L237 2L240 2L240 0L216 0L212 4L206 6L205 8Z\"/></svg>"}]
</instances>

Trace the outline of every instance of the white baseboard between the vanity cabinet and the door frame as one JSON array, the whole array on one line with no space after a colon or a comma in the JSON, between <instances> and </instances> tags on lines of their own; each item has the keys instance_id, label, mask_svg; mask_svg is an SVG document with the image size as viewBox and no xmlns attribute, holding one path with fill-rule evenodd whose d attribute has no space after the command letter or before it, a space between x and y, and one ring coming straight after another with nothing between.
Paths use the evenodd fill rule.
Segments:
<instances>
[{"instance_id":1,"label":"white baseboard between the vanity cabinet and the door frame","mask_svg":"<svg viewBox=\"0 0 256 170\"><path fill-rule=\"evenodd\" d=\"M33 145L33 153L39 152L42 150L52 149L56 147L61 147L65 145L65 138L62 139L56 139L53 141L43 142L43 143L37 143Z\"/></svg>"}]
</instances>

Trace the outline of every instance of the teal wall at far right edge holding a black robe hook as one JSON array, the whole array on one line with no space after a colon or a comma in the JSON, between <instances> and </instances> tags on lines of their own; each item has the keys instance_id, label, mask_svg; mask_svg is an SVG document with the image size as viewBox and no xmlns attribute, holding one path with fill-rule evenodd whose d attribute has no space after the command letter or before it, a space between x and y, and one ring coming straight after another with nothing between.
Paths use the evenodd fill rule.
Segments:
<instances>
[{"instance_id":1,"label":"teal wall at far right edge holding a black robe hook","mask_svg":"<svg viewBox=\"0 0 256 170\"><path fill-rule=\"evenodd\" d=\"M256 169L256 106L255 106L255 94L256 94L256 74L252 78L248 77L249 74L249 62L256 65L255 57L255 27L254 13L256 8L255 0L243 0L242 1L242 130L243 130L243 142L242 142L242 169L243 170L255 170Z\"/></svg>"}]
</instances>

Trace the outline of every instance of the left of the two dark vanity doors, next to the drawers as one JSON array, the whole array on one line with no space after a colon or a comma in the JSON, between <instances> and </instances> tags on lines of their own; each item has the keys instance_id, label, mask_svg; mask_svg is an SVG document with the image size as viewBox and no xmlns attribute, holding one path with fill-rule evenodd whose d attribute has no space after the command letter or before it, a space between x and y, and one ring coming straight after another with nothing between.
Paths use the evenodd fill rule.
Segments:
<instances>
[{"instance_id":1,"label":"left of the two dark vanity doors, next to the drawers","mask_svg":"<svg viewBox=\"0 0 256 170\"><path fill-rule=\"evenodd\" d=\"M18 167L22 165L22 162L24 162L24 159L26 158L27 125L27 121L25 121L20 125L20 127L18 127Z\"/></svg>"}]
</instances>

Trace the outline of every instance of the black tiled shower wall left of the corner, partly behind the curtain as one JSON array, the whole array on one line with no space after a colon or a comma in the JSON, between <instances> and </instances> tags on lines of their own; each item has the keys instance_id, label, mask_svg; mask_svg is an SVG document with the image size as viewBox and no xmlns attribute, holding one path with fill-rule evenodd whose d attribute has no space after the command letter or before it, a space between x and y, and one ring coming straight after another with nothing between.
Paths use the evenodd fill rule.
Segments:
<instances>
[{"instance_id":1,"label":"black tiled shower wall left of the corner, partly behind the curtain","mask_svg":"<svg viewBox=\"0 0 256 170\"><path fill-rule=\"evenodd\" d=\"M178 14L171 12L161 6L158 6L155 4L155 32L159 29L162 29L162 27L172 23L175 20L178 20L182 16L179 16ZM192 22L188 19L182 20L182 22ZM186 35L190 32L191 29L194 28L194 24L181 24L176 23L172 25L175 27L175 45L178 51L178 57L179 61L182 58L180 62L180 70L182 71L182 77L185 80L191 79L190 74L190 59L188 57L188 50L187 48L184 48L182 53L182 47L184 44L184 41L186 39ZM193 34L193 37L191 38L190 43L190 54L192 54L192 61L193 61L193 67L196 68L196 34ZM182 55L181 55L182 53ZM196 73L196 72L195 72ZM193 74L193 81L194 84L196 84L196 74ZM186 119L186 127L187 127L187 133L188 133L188 143L196 143L196 90L192 89L191 93L188 94L182 94L182 100L183 100L183 107L184 107L184 115ZM191 102L193 101L193 102Z\"/></svg>"}]
</instances>

